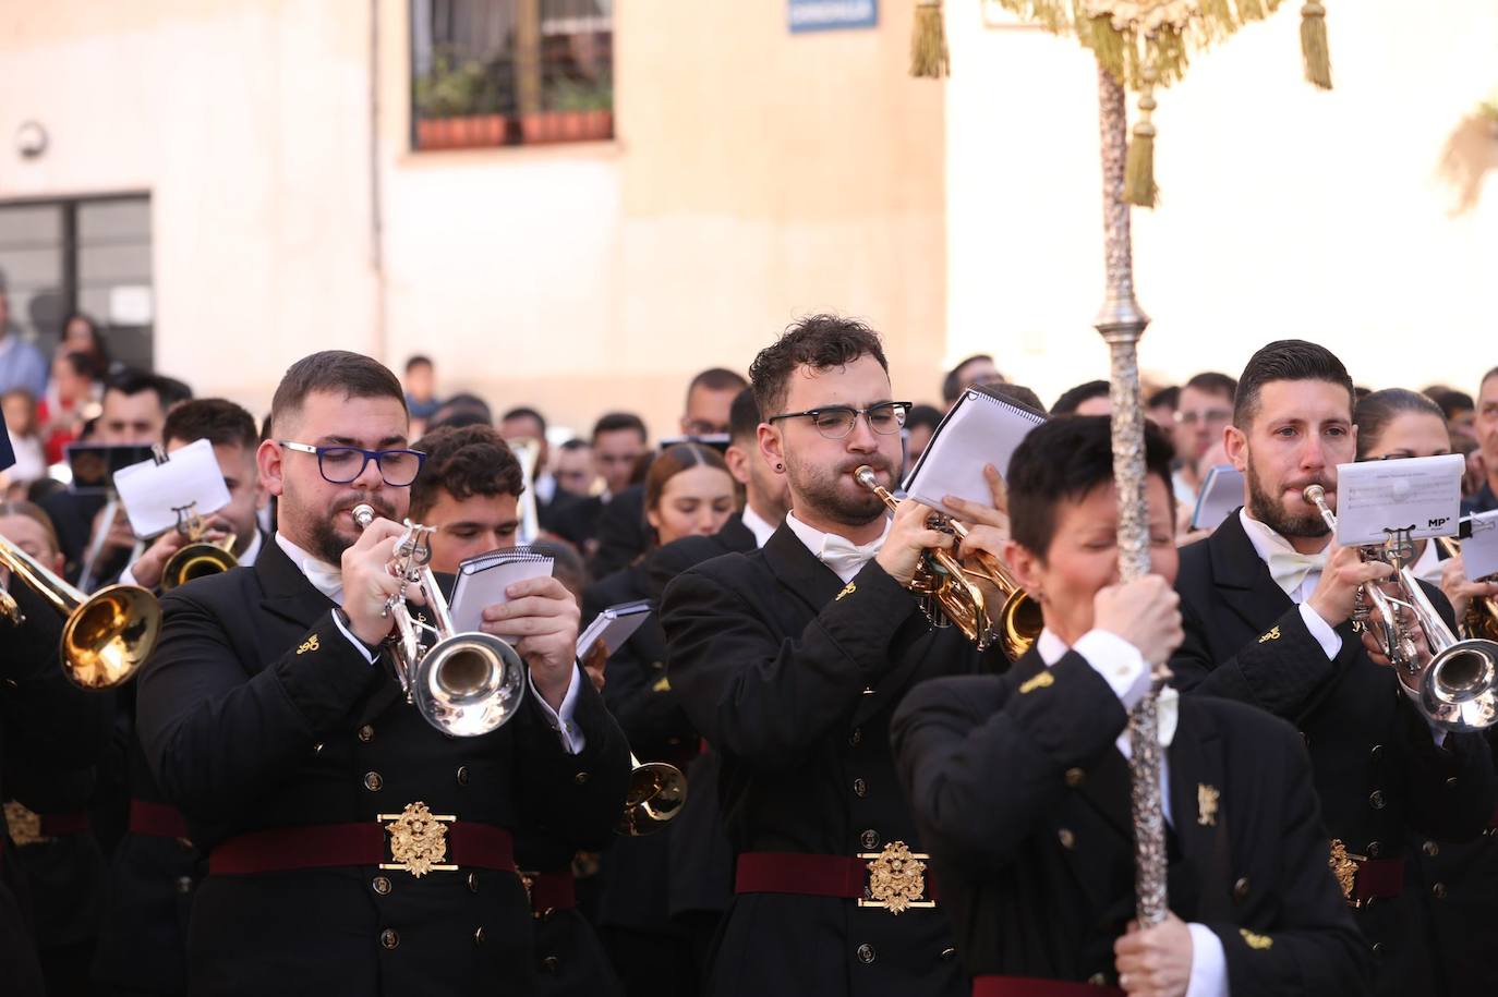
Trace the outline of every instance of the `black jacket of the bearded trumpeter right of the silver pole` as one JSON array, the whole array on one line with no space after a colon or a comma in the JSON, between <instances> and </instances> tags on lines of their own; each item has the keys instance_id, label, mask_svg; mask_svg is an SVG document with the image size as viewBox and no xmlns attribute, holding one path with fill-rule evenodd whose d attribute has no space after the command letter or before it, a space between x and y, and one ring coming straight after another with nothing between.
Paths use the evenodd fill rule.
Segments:
<instances>
[{"instance_id":1,"label":"black jacket of the bearded trumpeter right of the silver pole","mask_svg":"<svg viewBox=\"0 0 1498 997\"><path fill-rule=\"evenodd\" d=\"M1198 695L1239 699L1300 729L1327 834L1353 855L1405 855L1411 832L1470 840L1494 813L1494 762L1483 738L1431 729L1393 669L1380 668L1350 623L1327 660L1300 609L1275 584L1234 513L1182 549L1176 578L1186 639L1170 666ZM1426 588L1450 626L1450 603ZM1422 993L1432 969L1419 942L1419 904L1378 900L1356 919L1380 960L1380 993Z\"/></svg>"}]
</instances>

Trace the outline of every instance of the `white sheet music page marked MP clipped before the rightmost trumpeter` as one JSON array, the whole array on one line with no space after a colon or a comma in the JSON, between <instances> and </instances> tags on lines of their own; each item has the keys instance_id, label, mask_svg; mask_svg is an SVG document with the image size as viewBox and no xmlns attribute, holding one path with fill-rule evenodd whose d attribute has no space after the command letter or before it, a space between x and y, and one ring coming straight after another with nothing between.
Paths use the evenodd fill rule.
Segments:
<instances>
[{"instance_id":1,"label":"white sheet music page marked MP clipped before the rightmost trumpeter","mask_svg":"<svg viewBox=\"0 0 1498 997\"><path fill-rule=\"evenodd\" d=\"M1336 466L1336 542L1383 543L1392 530L1456 536L1462 513L1461 454Z\"/></svg>"}]
</instances>

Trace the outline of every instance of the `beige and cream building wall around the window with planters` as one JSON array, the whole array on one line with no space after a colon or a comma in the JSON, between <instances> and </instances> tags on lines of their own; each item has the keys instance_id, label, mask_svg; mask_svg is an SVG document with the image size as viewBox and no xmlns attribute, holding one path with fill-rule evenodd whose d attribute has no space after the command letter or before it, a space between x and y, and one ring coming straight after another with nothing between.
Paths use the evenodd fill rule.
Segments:
<instances>
[{"instance_id":1,"label":"beige and cream building wall around the window with planters","mask_svg":"<svg viewBox=\"0 0 1498 997\"><path fill-rule=\"evenodd\" d=\"M0 148L0 201L150 192L157 365L255 409L312 349L419 350L445 389L667 433L692 373L816 308L929 395L944 94L881 7L792 36L782 3L616 4L617 141L415 154L404 0L7 0L0 136L51 147Z\"/></svg>"}]
</instances>

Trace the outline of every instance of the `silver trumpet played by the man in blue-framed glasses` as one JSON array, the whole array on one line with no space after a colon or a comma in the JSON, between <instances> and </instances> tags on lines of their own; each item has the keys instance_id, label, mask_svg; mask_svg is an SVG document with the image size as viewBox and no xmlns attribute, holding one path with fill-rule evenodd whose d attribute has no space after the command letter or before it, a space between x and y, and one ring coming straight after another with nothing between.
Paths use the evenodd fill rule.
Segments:
<instances>
[{"instance_id":1,"label":"silver trumpet played by the man in blue-framed glasses","mask_svg":"<svg viewBox=\"0 0 1498 997\"><path fill-rule=\"evenodd\" d=\"M374 521L369 504L354 506L361 530ZM395 620L395 675L421 716L443 734L472 738L488 734L511 719L526 692L526 666L520 653L488 633L457 633L448 600L431 573L431 534L436 527L406 519L395 543L389 570L401 579L400 593L385 603ZM415 618L406 605L406 588L419 585L436 623Z\"/></svg>"}]
</instances>

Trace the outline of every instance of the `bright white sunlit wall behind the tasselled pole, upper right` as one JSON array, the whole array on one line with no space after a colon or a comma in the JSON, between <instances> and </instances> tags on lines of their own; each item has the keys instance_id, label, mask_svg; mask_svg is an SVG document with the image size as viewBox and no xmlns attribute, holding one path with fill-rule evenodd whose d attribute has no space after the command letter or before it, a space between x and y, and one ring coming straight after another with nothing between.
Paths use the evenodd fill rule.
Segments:
<instances>
[{"instance_id":1,"label":"bright white sunlit wall behind the tasselled pole, upper right","mask_svg":"<svg viewBox=\"0 0 1498 997\"><path fill-rule=\"evenodd\" d=\"M947 4L948 359L992 349L1049 403L1107 376L1095 69L1073 39L984 28L977 6ZM1498 183L1453 216L1440 175L1498 85L1498 4L1417 7L1327 4L1329 94L1302 81L1287 3L1159 96L1162 204L1134 213L1146 367L1236 374L1282 335L1374 388L1476 391L1498 364Z\"/></svg>"}]
</instances>

